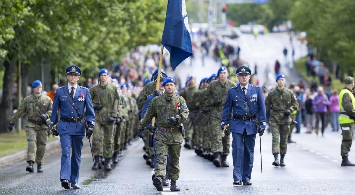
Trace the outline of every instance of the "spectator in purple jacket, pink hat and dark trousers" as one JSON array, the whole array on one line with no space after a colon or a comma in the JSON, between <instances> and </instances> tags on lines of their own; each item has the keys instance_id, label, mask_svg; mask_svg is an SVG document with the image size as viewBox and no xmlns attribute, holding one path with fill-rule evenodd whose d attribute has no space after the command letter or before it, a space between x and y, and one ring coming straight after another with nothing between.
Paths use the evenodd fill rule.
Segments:
<instances>
[{"instance_id":1,"label":"spectator in purple jacket, pink hat and dark trousers","mask_svg":"<svg viewBox=\"0 0 355 195\"><path fill-rule=\"evenodd\" d=\"M317 88L318 95L313 99L312 104L315 106L316 112L316 124L315 133L318 135L319 121L322 121L322 136L324 136L324 129L326 128L326 113L329 100L326 94L324 94L323 87Z\"/></svg>"}]
</instances>

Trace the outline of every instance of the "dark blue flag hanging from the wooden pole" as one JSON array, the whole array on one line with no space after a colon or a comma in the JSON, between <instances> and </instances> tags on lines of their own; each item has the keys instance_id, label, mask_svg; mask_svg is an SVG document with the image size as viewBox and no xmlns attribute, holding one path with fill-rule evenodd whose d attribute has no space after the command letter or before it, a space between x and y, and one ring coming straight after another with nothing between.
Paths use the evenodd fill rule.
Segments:
<instances>
[{"instance_id":1,"label":"dark blue flag hanging from the wooden pole","mask_svg":"<svg viewBox=\"0 0 355 195\"><path fill-rule=\"evenodd\" d=\"M170 64L173 70L192 55L189 31L185 0L169 0L162 44L170 53Z\"/></svg>"}]
</instances>

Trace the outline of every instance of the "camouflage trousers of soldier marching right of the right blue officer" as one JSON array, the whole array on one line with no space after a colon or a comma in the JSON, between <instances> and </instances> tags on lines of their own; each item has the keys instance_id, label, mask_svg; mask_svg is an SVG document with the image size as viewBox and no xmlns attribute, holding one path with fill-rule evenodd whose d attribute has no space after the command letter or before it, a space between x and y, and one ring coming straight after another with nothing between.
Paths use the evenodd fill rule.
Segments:
<instances>
[{"instance_id":1,"label":"camouflage trousers of soldier marching right of the right blue officer","mask_svg":"<svg viewBox=\"0 0 355 195\"><path fill-rule=\"evenodd\" d=\"M275 122L271 122L270 132L272 133L272 154L286 154L289 129L289 124L278 125Z\"/></svg>"}]
</instances>

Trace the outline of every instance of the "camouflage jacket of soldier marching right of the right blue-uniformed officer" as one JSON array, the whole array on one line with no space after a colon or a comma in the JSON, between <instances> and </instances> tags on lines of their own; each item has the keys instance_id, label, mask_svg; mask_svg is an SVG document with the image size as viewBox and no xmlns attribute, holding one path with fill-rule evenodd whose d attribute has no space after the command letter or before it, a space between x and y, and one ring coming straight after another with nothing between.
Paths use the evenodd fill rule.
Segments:
<instances>
[{"instance_id":1,"label":"camouflage jacket of soldier marching right of the right blue-uniformed officer","mask_svg":"<svg viewBox=\"0 0 355 195\"><path fill-rule=\"evenodd\" d=\"M294 93L287 88L283 90L272 90L265 99L266 112L272 109L270 115L270 122L276 124L291 124L292 119L290 116L284 116L286 110L290 110L291 113L298 108L298 101Z\"/></svg>"}]
</instances>

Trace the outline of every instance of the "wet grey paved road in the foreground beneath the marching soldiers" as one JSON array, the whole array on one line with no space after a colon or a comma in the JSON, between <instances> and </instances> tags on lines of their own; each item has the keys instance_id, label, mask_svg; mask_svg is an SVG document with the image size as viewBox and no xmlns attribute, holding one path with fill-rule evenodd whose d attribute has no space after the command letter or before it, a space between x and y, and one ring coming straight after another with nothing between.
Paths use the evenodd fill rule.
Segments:
<instances>
[{"instance_id":1,"label":"wet grey paved road in the foreground beneath the marching soldiers","mask_svg":"<svg viewBox=\"0 0 355 195\"><path fill-rule=\"evenodd\" d=\"M327 129L328 130L328 129ZM354 194L355 168L341 167L339 132L325 137L294 134L288 145L286 167L272 166L271 134L262 136L263 174L260 168L259 138L256 139L252 186L233 186L233 168L216 168L185 148L180 157L181 189L178 194ZM84 140L80 169L80 190L60 186L60 150L47 152L44 173L27 173L26 162L0 168L0 194L160 194L152 185L152 168L142 158L143 141L133 141L113 171L91 170L92 157ZM354 152L350 160L355 161ZM231 155L228 161L232 164ZM169 194L169 189L162 194Z\"/></svg>"}]
</instances>

